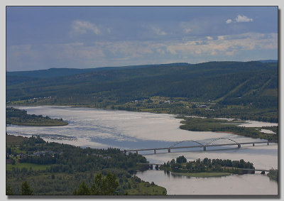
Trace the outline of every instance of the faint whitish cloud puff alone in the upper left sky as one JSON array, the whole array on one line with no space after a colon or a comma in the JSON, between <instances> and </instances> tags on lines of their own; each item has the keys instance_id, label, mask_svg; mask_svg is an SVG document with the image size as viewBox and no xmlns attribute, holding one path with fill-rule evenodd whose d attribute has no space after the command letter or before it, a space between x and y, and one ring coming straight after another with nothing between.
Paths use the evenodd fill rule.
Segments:
<instances>
[{"instance_id":1,"label":"faint whitish cloud puff alone in the upper left sky","mask_svg":"<svg viewBox=\"0 0 284 201\"><path fill-rule=\"evenodd\" d=\"M99 35L101 31L97 26L89 21L72 21L71 25L72 30L70 31L70 36L79 35L83 33L87 33L87 31L91 31L92 33Z\"/></svg>"}]
</instances>

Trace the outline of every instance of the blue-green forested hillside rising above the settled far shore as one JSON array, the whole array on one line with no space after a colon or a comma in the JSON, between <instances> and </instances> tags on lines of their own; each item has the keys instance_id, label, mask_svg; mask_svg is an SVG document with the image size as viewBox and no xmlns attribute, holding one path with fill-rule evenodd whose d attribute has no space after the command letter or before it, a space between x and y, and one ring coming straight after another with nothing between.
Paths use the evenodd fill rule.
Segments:
<instances>
[{"instance_id":1,"label":"blue-green forested hillside rising above the settled far shore","mask_svg":"<svg viewBox=\"0 0 284 201\"><path fill-rule=\"evenodd\" d=\"M9 82L9 77L7 77ZM10 82L11 83L11 82ZM124 104L151 97L278 109L278 63L209 62L99 70L7 85L6 100L53 97L55 104Z\"/></svg>"}]
</instances>

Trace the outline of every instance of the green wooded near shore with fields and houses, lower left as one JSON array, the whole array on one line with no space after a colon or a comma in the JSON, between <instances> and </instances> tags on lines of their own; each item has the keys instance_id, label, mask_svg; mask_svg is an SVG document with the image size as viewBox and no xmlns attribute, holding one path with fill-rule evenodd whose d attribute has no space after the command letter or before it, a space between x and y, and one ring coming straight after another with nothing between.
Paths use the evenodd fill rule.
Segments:
<instances>
[{"instance_id":1,"label":"green wooded near shore with fields and houses, lower left","mask_svg":"<svg viewBox=\"0 0 284 201\"><path fill-rule=\"evenodd\" d=\"M147 168L137 163L148 162L141 155L126 155L117 148L80 148L47 143L38 136L6 135L6 186L13 195L21 194L24 181L34 195L72 195L83 181L91 188L94 175L104 178L109 173L119 183L116 195L166 195L165 188L132 175Z\"/></svg>"}]
</instances>

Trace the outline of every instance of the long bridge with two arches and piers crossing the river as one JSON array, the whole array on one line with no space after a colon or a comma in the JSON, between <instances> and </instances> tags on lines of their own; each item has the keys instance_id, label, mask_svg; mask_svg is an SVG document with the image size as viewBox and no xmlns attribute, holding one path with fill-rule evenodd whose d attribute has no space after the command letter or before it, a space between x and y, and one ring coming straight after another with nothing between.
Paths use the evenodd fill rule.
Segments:
<instances>
[{"instance_id":1,"label":"long bridge with two arches and piers crossing the river","mask_svg":"<svg viewBox=\"0 0 284 201\"><path fill-rule=\"evenodd\" d=\"M229 143L219 143L219 144L212 144L215 141L220 141L220 140L227 140L227 141L231 141ZM180 143L183 142L194 142L197 143L196 146L177 146ZM206 144L202 144L198 141L179 141L177 143L174 143L172 146L169 147L165 147L165 148L140 148L140 149L131 149L131 150L124 150L124 153L127 152L136 152L138 154L138 151L154 151L154 153L156 153L157 150L168 150L168 153L170 153L171 150L173 149L179 149L179 148L203 148L203 151L206 151L207 147L213 147L213 146L237 146L237 148L241 148L241 145L245 145L245 144L252 144L252 146L255 146L255 144L258 143L266 143L267 145L269 145L269 143L278 143L278 141L250 141L250 142L237 142L234 141L230 138L216 138L213 139L212 141L209 141Z\"/></svg>"}]
</instances>

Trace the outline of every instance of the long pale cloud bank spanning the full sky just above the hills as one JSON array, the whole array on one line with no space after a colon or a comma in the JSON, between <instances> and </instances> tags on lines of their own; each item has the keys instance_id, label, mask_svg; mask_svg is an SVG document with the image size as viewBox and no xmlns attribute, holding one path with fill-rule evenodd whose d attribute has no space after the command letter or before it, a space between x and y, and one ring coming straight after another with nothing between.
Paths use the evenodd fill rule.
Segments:
<instances>
[{"instance_id":1,"label":"long pale cloud bank spanning the full sky just above the hills","mask_svg":"<svg viewBox=\"0 0 284 201\"><path fill-rule=\"evenodd\" d=\"M7 61L9 65L18 63L27 65L28 61L32 60L33 65L40 65L45 60L48 61L48 67L84 68L169 63L173 60L190 62L190 58L208 58L209 56L214 56L214 60L222 58L230 60L230 57L246 51L277 51L277 49L277 33L244 33L214 38L192 37L188 40L172 40L167 43L131 40L94 41L88 44L13 45L7 49L9 57Z\"/></svg>"}]
</instances>

